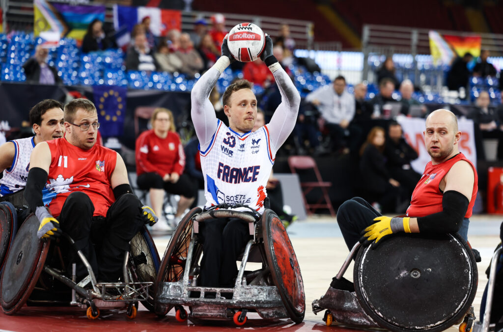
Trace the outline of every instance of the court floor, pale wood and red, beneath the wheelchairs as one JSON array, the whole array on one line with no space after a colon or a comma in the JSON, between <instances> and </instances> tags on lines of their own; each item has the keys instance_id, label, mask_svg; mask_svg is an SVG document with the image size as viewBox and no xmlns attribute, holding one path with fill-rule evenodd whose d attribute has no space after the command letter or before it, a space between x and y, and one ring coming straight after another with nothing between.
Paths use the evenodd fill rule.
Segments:
<instances>
[{"instance_id":1,"label":"court floor, pale wood and red, beneath the wheelchairs","mask_svg":"<svg viewBox=\"0 0 503 332\"><path fill-rule=\"evenodd\" d=\"M471 218L468 240L482 257L478 263L479 282L474 308L479 319L479 308L483 288L487 283L485 270L489 264L492 252L499 243L499 225L503 216L478 215ZM297 221L288 228L297 259L300 264L306 295L306 314L304 322L293 324L289 320L276 322L264 321L258 315L250 314L248 322L240 328L281 331L347 331L338 325L325 326L322 321L323 312L315 315L311 310L311 302L319 299L327 290L331 278L337 274L348 255L348 250L342 238L336 219L322 216L312 216L305 221ZM155 236L154 241L162 256L170 236ZM345 277L353 279L352 266ZM18 314L7 316L0 313L0 331L74 331L104 330L108 331L150 331L150 330L190 330L210 331L238 328L232 322L213 322L210 325L194 325L179 323L175 320L172 310L165 317L157 317L140 306L137 317L129 320L125 310L107 310L102 316L90 321L85 310L79 308L23 307ZM448 331L457 331L453 326Z\"/></svg>"}]
</instances>

